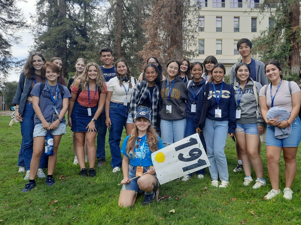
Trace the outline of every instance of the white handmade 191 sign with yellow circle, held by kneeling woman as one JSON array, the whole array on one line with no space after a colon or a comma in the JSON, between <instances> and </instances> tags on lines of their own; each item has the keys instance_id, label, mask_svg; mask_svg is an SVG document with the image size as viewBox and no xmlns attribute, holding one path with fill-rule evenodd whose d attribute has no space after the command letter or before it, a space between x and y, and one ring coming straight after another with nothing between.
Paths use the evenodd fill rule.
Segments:
<instances>
[{"instance_id":1,"label":"white handmade 191 sign with yellow circle, held by kneeling woman","mask_svg":"<svg viewBox=\"0 0 301 225\"><path fill-rule=\"evenodd\" d=\"M151 159L160 184L210 166L198 134L153 152Z\"/></svg>"}]
</instances>

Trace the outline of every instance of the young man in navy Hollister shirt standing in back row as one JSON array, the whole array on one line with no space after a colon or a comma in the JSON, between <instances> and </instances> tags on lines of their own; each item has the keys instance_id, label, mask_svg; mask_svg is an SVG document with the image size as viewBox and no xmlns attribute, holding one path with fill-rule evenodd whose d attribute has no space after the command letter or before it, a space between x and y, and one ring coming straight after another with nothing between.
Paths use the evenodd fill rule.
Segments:
<instances>
[{"instance_id":1,"label":"young man in navy Hollister shirt standing in back row","mask_svg":"<svg viewBox=\"0 0 301 225\"><path fill-rule=\"evenodd\" d=\"M104 65L101 66L100 69L107 83L111 78L116 76L115 66L112 65L114 59L113 52L109 48L103 48L99 50L99 54L101 55L101 61L104 63ZM106 141L106 134L107 134L107 126L106 126L106 114L104 110L99 116L99 120L100 120L100 122L98 123L99 126L97 127L98 134L97 134L96 157L98 161L97 166L102 167L104 164L106 164L105 141Z\"/></svg>"}]
</instances>

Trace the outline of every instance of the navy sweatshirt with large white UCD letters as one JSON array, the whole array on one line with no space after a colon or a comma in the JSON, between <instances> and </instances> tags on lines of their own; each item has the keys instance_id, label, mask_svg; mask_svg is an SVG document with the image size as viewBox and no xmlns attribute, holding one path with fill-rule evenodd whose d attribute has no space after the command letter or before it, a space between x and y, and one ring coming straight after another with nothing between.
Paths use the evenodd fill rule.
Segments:
<instances>
[{"instance_id":1,"label":"navy sweatshirt with large white UCD letters","mask_svg":"<svg viewBox=\"0 0 301 225\"><path fill-rule=\"evenodd\" d=\"M217 102L215 97L215 92L213 88L212 83L207 83L206 85L209 85L209 94L208 94L208 101L211 102L211 105L207 111L207 116L209 119L213 120L219 120L224 121L228 120L228 133L234 133L236 128L236 119L235 119L235 110L236 110L236 104L235 104L235 91L234 88L224 83L223 89L222 89L222 97L219 101L219 109L222 110L222 118L216 118L215 117L215 110L217 109ZM196 127L198 127L198 123L200 120L200 114L203 107L203 101L204 101L204 95L206 92L206 85L203 86L203 88L200 91L199 99L197 101L197 111L194 118L194 124ZM221 89L222 83L216 84L216 92L217 96L219 96L219 91Z\"/></svg>"}]
</instances>

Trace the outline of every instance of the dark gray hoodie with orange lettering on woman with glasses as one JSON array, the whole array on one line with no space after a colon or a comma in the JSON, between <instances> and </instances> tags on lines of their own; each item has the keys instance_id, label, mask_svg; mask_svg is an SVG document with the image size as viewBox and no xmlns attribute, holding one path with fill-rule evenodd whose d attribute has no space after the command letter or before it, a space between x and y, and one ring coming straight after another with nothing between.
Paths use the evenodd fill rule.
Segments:
<instances>
[{"instance_id":1,"label":"dark gray hoodie with orange lettering on woman with glasses","mask_svg":"<svg viewBox=\"0 0 301 225\"><path fill-rule=\"evenodd\" d=\"M172 86L172 81L169 82L169 89ZM188 100L187 86L183 82L181 76L175 78L175 83L170 93L169 105L172 106L172 113L166 113L167 98L167 79L162 82L160 92L160 119L177 120L186 118L186 103Z\"/></svg>"}]
</instances>

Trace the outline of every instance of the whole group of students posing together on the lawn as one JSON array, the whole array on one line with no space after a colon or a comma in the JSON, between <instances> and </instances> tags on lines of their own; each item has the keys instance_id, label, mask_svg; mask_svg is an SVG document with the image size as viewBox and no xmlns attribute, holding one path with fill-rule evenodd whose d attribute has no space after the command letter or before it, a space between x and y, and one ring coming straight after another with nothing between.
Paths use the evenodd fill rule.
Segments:
<instances>
[{"instance_id":1,"label":"whole group of students posing together on the lawn","mask_svg":"<svg viewBox=\"0 0 301 225\"><path fill-rule=\"evenodd\" d=\"M282 80L283 69L278 61L271 60L263 64L252 59L250 40L240 39L237 49L242 61L231 68L231 85L224 82L225 67L214 56L208 56L203 64L190 64L186 58L171 60L166 64L166 76L162 74L163 68L158 59L151 56L137 80L131 76L131 70L123 58L118 59L113 66L112 51L108 48L101 49L101 61L104 63L101 67L95 63L86 64L82 58L78 59L76 75L68 83L71 94L66 87L61 88L57 84L60 68L53 63L45 63L41 52L32 53L20 76L13 101L18 109L16 118L24 118L24 122L28 120L28 124L31 115L24 116L27 115L24 105L28 109L31 107L28 114L33 114L33 110L35 112L31 125L31 146L25 143L25 135L29 138L30 134L24 133L24 122L21 122L23 140L20 153L26 155L31 148L32 154L31 162L29 160L29 182L23 191L36 186L34 179L37 171L45 164L40 159L47 130L51 130L55 138L54 155L48 161L46 184L54 184L52 173L57 146L61 135L66 133L64 115L68 109L68 124L74 134L73 147L80 166L79 174L82 176L88 176L85 155L88 155L88 172L91 177L96 175L96 157L99 167L106 163L104 143L107 128L109 129L111 166L114 173L120 171L120 168L123 171L120 206L133 205L140 191L144 191L143 205L152 202L157 179L151 153L195 133L199 133L208 156L211 184L214 187L228 185L228 165L224 149L227 137L234 136L238 157L234 171L244 169L243 185L247 186L253 181L252 165L256 173L253 188L264 186L266 182L260 157L259 135L265 129L272 190L264 198L272 199L281 192L278 160L283 149L286 163L283 197L291 200L293 191L290 188L296 174L296 151L301 139L298 116L301 91L295 82ZM44 76L47 80L41 91ZM268 84L268 79L271 84ZM42 82L39 83L40 81ZM67 91L61 94L60 90L65 89ZM287 115L287 118L283 115ZM120 151L123 127L128 136ZM27 152L24 152L25 144L28 146ZM26 160L24 157L26 164L29 158L31 156ZM18 165L20 166L19 163ZM26 170L30 167L26 166ZM143 173L146 174L142 176ZM202 179L205 170L195 173ZM184 176L182 181L189 180L192 175Z\"/></svg>"}]
</instances>

